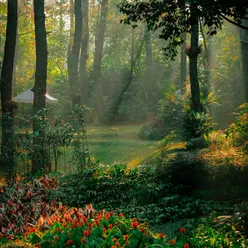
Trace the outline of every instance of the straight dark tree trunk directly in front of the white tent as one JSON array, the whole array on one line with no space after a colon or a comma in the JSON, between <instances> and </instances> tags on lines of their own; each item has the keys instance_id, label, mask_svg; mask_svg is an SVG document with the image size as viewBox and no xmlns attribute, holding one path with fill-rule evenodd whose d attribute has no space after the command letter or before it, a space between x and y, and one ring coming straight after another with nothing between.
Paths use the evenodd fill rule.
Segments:
<instances>
[{"instance_id":1,"label":"straight dark tree trunk directly in front of the white tent","mask_svg":"<svg viewBox=\"0 0 248 248\"><path fill-rule=\"evenodd\" d=\"M44 0L34 0L34 24L36 44L36 69L34 85L34 116L41 116L40 111L46 105L46 79L47 79L47 40L45 27ZM33 121L34 146L38 149L34 154L33 173L45 168L45 135L41 128L41 120Z\"/></svg>"}]
</instances>

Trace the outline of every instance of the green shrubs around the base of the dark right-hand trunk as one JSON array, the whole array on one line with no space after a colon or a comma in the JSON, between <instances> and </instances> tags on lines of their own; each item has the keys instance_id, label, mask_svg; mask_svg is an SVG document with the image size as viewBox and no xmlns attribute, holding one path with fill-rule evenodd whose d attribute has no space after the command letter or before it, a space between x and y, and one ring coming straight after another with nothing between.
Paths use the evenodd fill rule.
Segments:
<instances>
[{"instance_id":1,"label":"green shrubs around the base of the dark right-hand trunk","mask_svg":"<svg viewBox=\"0 0 248 248\"><path fill-rule=\"evenodd\" d=\"M209 115L209 106L216 102L211 92L201 102L204 112L195 113L190 109L189 92L183 96L177 93L165 94L159 102L158 116L148 124L143 125L139 135L143 139L162 139L171 131L176 131L179 137L188 141L187 148L204 148L205 138L215 126Z\"/></svg>"}]
</instances>

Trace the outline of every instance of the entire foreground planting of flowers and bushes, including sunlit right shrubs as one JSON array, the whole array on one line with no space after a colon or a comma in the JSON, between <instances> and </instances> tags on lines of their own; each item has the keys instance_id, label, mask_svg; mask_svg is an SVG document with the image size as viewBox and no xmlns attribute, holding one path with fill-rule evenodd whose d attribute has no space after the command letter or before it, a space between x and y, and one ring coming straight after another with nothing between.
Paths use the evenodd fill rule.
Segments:
<instances>
[{"instance_id":1,"label":"entire foreground planting of flowers and bushes, including sunlit right shrubs","mask_svg":"<svg viewBox=\"0 0 248 248\"><path fill-rule=\"evenodd\" d=\"M175 151L170 133L150 165L92 163L1 187L2 247L247 247L247 117L204 136L204 149Z\"/></svg>"}]
</instances>

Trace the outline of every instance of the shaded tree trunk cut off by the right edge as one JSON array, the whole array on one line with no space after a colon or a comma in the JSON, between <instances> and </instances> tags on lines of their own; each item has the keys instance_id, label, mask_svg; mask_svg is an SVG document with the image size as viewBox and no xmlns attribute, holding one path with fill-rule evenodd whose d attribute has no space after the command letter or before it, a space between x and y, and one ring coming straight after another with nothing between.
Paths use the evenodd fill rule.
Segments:
<instances>
[{"instance_id":1,"label":"shaded tree trunk cut off by the right edge","mask_svg":"<svg viewBox=\"0 0 248 248\"><path fill-rule=\"evenodd\" d=\"M242 24L248 27L248 20L243 20ZM240 42L245 101L248 102L248 31L245 29L240 30Z\"/></svg>"}]
</instances>

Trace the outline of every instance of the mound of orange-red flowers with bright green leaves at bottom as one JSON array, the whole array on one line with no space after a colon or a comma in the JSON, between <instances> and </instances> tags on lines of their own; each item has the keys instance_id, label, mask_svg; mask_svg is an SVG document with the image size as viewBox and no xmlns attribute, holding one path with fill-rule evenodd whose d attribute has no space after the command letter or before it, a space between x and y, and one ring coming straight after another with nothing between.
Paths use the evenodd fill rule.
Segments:
<instances>
[{"instance_id":1,"label":"mound of orange-red flowers with bright green leaves at bottom","mask_svg":"<svg viewBox=\"0 0 248 248\"><path fill-rule=\"evenodd\" d=\"M44 224L47 230L44 231ZM43 230L43 232L39 232ZM67 209L60 205L52 216L39 221L35 229L25 234L36 247L166 247L165 235L153 234L147 224L127 219L123 214Z\"/></svg>"}]
</instances>

